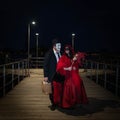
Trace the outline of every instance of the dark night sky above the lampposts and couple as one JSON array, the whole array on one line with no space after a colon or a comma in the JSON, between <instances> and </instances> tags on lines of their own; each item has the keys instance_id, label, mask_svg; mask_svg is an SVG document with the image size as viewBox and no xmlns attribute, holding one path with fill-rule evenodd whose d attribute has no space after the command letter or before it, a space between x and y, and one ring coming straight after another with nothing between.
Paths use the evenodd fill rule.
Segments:
<instances>
[{"instance_id":1,"label":"dark night sky above the lampposts and couple","mask_svg":"<svg viewBox=\"0 0 120 120\"><path fill-rule=\"evenodd\" d=\"M31 48L50 47L59 37L62 45L71 44L80 51L120 51L120 9L115 0L8 0L0 3L0 48L27 49L28 23ZM63 47L62 46L62 47Z\"/></svg>"}]
</instances>

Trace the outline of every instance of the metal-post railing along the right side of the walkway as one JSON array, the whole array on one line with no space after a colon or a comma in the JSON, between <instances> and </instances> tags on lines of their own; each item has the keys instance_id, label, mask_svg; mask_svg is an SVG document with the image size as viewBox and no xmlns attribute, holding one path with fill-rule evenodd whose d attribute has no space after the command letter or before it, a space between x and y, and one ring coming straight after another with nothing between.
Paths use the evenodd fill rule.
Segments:
<instances>
[{"instance_id":1,"label":"metal-post railing along the right side of the walkway","mask_svg":"<svg viewBox=\"0 0 120 120\"><path fill-rule=\"evenodd\" d=\"M120 65L86 60L84 69L87 77L120 96Z\"/></svg>"}]
</instances>

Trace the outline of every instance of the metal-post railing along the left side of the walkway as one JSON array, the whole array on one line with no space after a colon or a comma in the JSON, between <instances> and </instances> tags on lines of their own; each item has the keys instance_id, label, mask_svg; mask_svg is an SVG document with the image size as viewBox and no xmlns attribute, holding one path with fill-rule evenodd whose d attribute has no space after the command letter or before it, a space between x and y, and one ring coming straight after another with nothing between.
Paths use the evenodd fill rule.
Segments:
<instances>
[{"instance_id":1,"label":"metal-post railing along the left side of the walkway","mask_svg":"<svg viewBox=\"0 0 120 120\"><path fill-rule=\"evenodd\" d=\"M27 59L0 65L0 96L5 96L28 75L27 68Z\"/></svg>"}]
</instances>

